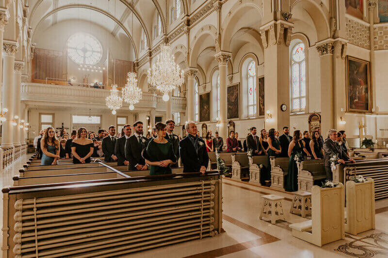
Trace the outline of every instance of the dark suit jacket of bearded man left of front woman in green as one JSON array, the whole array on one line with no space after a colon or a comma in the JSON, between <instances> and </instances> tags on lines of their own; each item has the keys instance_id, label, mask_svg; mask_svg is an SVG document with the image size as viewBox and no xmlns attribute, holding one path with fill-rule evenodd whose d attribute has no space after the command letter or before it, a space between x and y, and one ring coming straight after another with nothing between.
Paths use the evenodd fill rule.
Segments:
<instances>
[{"instance_id":1,"label":"dark suit jacket of bearded man left of front woman in green","mask_svg":"<svg viewBox=\"0 0 388 258\"><path fill-rule=\"evenodd\" d=\"M135 165L146 165L146 161L142 156L142 151L147 148L148 139L142 136L142 147L140 146L138 138L132 135L125 142L125 158L129 160L129 170L137 170Z\"/></svg>"}]
</instances>

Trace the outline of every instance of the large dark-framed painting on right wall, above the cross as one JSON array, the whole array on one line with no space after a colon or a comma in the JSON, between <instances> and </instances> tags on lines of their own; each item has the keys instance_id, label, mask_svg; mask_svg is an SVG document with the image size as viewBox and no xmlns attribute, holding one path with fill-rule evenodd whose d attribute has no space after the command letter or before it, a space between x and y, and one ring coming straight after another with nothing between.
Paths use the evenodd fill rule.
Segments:
<instances>
[{"instance_id":1,"label":"large dark-framed painting on right wall, above the cross","mask_svg":"<svg viewBox=\"0 0 388 258\"><path fill-rule=\"evenodd\" d=\"M370 63L346 56L346 106L350 112L371 112Z\"/></svg>"}]
</instances>

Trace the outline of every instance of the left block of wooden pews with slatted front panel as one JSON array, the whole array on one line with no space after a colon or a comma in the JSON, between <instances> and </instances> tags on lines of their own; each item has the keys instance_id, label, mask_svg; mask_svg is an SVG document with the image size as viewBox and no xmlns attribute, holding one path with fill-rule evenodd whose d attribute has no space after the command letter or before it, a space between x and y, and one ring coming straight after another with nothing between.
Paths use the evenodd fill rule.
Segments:
<instances>
[{"instance_id":1,"label":"left block of wooden pews with slatted front panel","mask_svg":"<svg viewBox=\"0 0 388 258\"><path fill-rule=\"evenodd\" d=\"M113 257L216 236L218 171L149 176L97 161L40 166L36 154L2 189L2 257Z\"/></svg>"}]
</instances>

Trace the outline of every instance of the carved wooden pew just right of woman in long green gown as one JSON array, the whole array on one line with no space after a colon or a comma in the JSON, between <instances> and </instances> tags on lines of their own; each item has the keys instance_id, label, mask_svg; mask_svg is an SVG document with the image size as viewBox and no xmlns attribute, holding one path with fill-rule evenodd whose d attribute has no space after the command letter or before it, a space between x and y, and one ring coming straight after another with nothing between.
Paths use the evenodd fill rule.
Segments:
<instances>
[{"instance_id":1,"label":"carved wooden pew just right of woman in long green gown","mask_svg":"<svg viewBox=\"0 0 388 258\"><path fill-rule=\"evenodd\" d=\"M323 159L304 160L298 170L298 190L311 192L314 182L326 178Z\"/></svg>"}]
</instances>

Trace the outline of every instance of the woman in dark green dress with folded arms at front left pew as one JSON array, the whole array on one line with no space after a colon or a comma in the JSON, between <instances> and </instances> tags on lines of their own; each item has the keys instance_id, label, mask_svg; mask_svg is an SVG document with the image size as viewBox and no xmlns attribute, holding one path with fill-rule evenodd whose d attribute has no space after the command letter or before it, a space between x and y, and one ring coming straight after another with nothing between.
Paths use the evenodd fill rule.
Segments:
<instances>
[{"instance_id":1,"label":"woman in dark green dress with folded arms at front left pew","mask_svg":"<svg viewBox=\"0 0 388 258\"><path fill-rule=\"evenodd\" d=\"M171 165L177 162L171 141L165 139L166 124L158 122L155 124L157 137L149 141L147 148L143 151L146 164L150 165L149 174L165 175L171 174Z\"/></svg>"}]
</instances>

